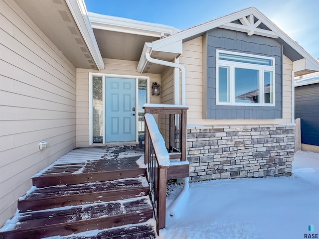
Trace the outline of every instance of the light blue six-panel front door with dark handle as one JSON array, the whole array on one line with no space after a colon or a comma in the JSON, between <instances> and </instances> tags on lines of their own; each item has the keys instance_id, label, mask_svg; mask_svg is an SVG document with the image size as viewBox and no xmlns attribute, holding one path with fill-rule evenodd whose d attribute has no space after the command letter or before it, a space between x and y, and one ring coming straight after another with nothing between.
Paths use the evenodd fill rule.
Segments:
<instances>
[{"instance_id":1,"label":"light blue six-panel front door with dark handle","mask_svg":"<svg viewBox=\"0 0 319 239\"><path fill-rule=\"evenodd\" d=\"M136 79L105 78L105 141L136 141Z\"/></svg>"}]
</instances>

